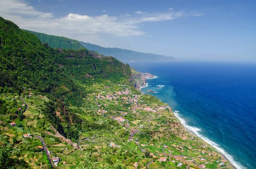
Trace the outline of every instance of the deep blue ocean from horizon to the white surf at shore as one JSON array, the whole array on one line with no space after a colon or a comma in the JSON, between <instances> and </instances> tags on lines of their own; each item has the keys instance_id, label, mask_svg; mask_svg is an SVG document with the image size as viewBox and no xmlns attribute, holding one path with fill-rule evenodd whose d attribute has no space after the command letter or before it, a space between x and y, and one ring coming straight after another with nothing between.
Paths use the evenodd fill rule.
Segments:
<instances>
[{"instance_id":1,"label":"deep blue ocean from horizon to the white surf at shore","mask_svg":"<svg viewBox=\"0 0 256 169\"><path fill-rule=\"evenodd\" d=\"M196 135L226 156L236 169L256 169L256 64L131 63L150 93L173 110Z\"/></svg>"}]
</instances>

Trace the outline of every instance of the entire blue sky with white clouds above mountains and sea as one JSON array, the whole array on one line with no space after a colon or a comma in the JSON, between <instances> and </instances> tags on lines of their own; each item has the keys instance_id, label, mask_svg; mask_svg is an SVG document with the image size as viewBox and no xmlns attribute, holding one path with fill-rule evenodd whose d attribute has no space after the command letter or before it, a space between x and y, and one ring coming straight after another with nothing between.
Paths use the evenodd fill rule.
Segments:
<instances>
[{"instance_id":1,"label":"entire blue sky with white clouds above mountains and sea","mask_svg":"<svg viewBox=\"0 0 256 169\"><path fill-rule=\"evenodd\" d=\"M0 0L22 29L178 60L256 62L256 0Z\"/></svg>"}]
</instances>

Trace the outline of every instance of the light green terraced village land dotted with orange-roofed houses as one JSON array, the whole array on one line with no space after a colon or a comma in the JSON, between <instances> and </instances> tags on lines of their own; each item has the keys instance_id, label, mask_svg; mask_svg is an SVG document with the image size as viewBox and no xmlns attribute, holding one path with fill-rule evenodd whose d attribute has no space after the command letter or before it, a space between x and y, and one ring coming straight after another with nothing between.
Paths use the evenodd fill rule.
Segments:
<instances>
[{"instance_id":1,"label":"light green terraced village land dotted with orange-roofed houses","mask_svg":"<svg viewBox=\"0 0 256 169\"><path fill-rule=\"evenodd\" d=\"M70 142L67 144L62 141L50 141L56 140L53 136L43 138L35 134L23 133L25 140L42 139L42 144L35 146L35 149L38 149L37 152L39 150L45 152L52 166L63 168L74 165L71 159L75 160L73 157L76 157L82 160L85 155L83 152L87 153L89 149L92 157L99 162L103 162L101 156L103 151L112 152L114 160L118 158L115 152L120 149L123 154L121 159L127 169L232 168L228 161L211 146L186 132L172 109L157 98L142 95L134 89L119 84L96 86L95 89L96 92L91 93L89 100L95 105L94 113L97 115L95 117L98 123L112 119L119 123L119 128L112 132L91 131L91 135L84 133L81 135L78 148L70 145ZM35 95L26 96L24 102L21 102L23 103L21 108L17 110L21 112L23 110L26 116L32 115L30 111L33 105L25 101L36 102L33 98L39 100ZM40 98L45 99L42 96ZM24 112L27 106L28 111ZM90 116L81 114L81 117ZM15 122L9 123L9 126L17 127ZM18 147L16 146L16 149ZM126 157L131 153L133 154L131 157Z\"/></svg>"}]
</instances>

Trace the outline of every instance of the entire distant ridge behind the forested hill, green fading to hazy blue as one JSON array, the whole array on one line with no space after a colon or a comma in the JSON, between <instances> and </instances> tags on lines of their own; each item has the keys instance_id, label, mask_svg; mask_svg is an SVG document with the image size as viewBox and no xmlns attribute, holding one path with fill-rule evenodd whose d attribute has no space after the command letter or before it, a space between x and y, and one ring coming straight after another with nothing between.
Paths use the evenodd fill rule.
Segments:
<instances>
[{"instance_id":1,"label":"entire distant ridge behind the forested hill, green fading to hazy blue","mask_svg":"<svg viewBox=\"0 0 256 169\"><path fill-rule=\"evenodd\" d=\"M170 62L177 61L174 57L152 54L152 53L143 53L143 52L135 52L127 49L120 48L105 48L102 46L94 45L91 43L79 42L78 40L73 40L67 37L54 36L39 32L33 32L29 30L25 30L26 32L30 32L35 34L41 41L41 43L47 43L52 48L63 48L63 49L88 49L90 51L96 51L99 54L103 54L105 56L115 57L117 60L120 60L123 63L131 63L131 62Z\"/></svg>"}]
</instances>

